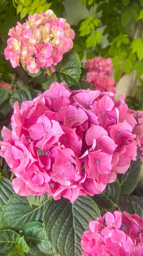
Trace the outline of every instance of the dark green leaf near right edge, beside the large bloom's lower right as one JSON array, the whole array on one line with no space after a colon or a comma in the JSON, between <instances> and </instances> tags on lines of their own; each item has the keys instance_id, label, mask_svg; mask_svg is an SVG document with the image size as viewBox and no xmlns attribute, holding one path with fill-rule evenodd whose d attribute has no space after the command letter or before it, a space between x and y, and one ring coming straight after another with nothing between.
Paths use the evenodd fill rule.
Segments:
<instances>
[{"instance_id":1,"label":"dark green leaf near right edge, beside the large bloom's lower right","mask_svg":"<svg viewBox=\"0 0 143 256\"><path fill-rule=\"evenodd\" d=\"M131 161L130 167L125 174L118 174L118 180L121 186L121 194L129 195L132 191L134 191L137 183L140 179L141 173L141 159L139 154L137 155L137 161Z\"/></svg>"}]
</instances>

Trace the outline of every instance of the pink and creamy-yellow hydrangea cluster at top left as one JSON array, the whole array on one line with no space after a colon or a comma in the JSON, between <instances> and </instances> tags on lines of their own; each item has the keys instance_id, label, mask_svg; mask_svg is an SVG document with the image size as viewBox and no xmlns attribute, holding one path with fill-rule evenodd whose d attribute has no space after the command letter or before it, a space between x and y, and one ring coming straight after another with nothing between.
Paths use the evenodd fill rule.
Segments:
<instances>
[{"instance_id":1,"label":"pink and creamy-yellow hydrangea cluster at top left","mask_svg":"<svg viewBox=\"0 0 143 256\"><path fill-rule=\"evenodd\" d=\"M37 74L41 67L60 62L63 54L72 49L74 30L49 9L28 16L23 25L17 22L9 36L4 50L6 60L10 60L13 68L21 63L30 73Z\"/></svg>"}]
</instances>

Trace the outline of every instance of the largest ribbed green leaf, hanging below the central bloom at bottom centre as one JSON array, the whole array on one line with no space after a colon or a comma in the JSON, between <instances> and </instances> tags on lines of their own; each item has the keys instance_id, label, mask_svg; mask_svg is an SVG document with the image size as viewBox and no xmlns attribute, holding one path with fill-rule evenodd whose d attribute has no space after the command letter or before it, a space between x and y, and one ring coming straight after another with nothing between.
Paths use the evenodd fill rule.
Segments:
<instances>
[{"instance_id":1,"label":"largest ribbed green leaf, hanging below the central bloom at bottom centre","mask_svg":"<svg viewBox=\"0 0 143 256\"><path fill-rule=\"evenodd\" d=\"M100 210L89 196L79 196L71 204L68 199L52 201L44 213L43 225L53 251L60 256L82 254L80 241L89 221L96 220Z\"/></svg>"}]
</instances>

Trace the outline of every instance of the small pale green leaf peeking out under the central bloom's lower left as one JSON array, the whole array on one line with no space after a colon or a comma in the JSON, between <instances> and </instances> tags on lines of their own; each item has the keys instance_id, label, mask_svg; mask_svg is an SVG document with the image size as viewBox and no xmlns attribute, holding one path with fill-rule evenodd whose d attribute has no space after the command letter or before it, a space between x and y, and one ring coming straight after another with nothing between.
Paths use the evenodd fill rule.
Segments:
<instances>
[{"instance_id":1,"label":"small pale green leaf peeking out under the central bloom's lower left","mask_svg":"<svg viewBox=\"0 0 143 256\"><path fill-rule=\"evenodd\" d=\"M28 195L27 200L29 202L30 207L32 205L40 206L48 199L48 193L45 193L44 195Z\"/></svg>"}]
</instances>

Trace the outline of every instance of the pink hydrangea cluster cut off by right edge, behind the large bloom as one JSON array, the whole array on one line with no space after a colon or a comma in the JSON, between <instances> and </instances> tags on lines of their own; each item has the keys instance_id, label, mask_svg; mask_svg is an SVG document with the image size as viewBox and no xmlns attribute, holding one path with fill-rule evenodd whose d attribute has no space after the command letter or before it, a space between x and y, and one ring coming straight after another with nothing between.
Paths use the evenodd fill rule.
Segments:
<instances>
[{"instance_id":1,"label":"pink hydrangea cluster cut off by right edge, behind the large bloom","mask_svg":"<svg viewBox=\"0 0 143 256\"><path fill-rule=\"evenodd\" d=\"M143 110L136 111L129 109L128 112L133 114L137 120L137 125L134 127L133 132L136 134L135 139L137 141L140 158L143 158Z\"/></svg>"}]
</instances>

